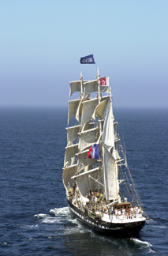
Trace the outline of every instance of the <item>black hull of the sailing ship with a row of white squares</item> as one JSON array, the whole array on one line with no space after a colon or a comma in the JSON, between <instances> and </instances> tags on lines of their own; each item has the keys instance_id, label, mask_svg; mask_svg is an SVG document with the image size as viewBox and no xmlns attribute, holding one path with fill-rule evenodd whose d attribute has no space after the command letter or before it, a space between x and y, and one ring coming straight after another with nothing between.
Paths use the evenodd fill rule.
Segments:
<instances>
[{"instance_id":1,"label":"black hull of the sailing ship with a row of white squares","mask_svg":"<svg viewBox=\"0 0 168 256\"><path fill-rule=\"evenodd\" d=\"M83 224L87 225L93 232L98 232L103 235L111 235L114 237L131 238L139 235L140 230L145 225L145 220L135 221L132 223L114 224L106 223L101 220L93 220L88 214L84 213L80 209L77 209L70 201L69 210Z\"/></svg>"}]
</instances>

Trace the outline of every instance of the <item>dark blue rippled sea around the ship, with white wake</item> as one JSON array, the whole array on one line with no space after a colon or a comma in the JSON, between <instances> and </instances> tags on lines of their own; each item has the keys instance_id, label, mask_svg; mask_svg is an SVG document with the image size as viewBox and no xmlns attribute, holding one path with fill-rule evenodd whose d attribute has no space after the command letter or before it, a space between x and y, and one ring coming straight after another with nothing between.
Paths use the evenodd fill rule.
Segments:
<instances>
[{"instance_id":1,"label":"dark blue rippled sea around the ship, with white wake","mask_svg":"<svg viewBox=\"0 0 168 256\"><path fill-rule=\"evenodd\" d=\"M168 110L114 109L149 216L138 237L99 235L69 213L68 107L0 107L0 255L168 255Z\"/></svg>"}]
</instances>

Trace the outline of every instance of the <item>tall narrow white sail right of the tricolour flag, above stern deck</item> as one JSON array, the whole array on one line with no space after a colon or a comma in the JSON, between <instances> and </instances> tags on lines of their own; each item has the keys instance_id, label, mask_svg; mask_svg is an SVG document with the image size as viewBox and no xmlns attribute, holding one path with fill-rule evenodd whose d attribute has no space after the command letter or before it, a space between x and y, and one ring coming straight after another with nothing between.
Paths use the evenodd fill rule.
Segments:
<instances>
[{"instance_id":1,"label":"tall narrow white sail right of the tricolour flag, above stern deck","mask_svg":"<svg viewBox=\"0 0 168 256\"><path fill-rule=\"evenodd\" d=\"M103 171L106 200L118 199L119 184L118 184L118 165L114 157L103 146Z\"/></svg>"}]
</instances>

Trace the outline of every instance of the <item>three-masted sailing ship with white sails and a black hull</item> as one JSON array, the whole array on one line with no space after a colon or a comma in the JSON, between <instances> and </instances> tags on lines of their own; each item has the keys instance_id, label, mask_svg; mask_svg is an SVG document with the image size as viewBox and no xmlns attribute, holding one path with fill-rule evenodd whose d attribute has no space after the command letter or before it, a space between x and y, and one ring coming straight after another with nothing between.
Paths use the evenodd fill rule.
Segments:
<instances>
[{"instance_id":1,"label":"three-masted sailing ship with white sails and a black hull","mask_svg":"<svg viewBox=\"0 0 168 256\"><path fill-rule=\"evenodd\" d=\"M146 218L114 119L110 77L71 81L63 183L69 210L91 230L133 237ZM72 98L75 98L72 100Z\"/></svg>"}]
</instances>

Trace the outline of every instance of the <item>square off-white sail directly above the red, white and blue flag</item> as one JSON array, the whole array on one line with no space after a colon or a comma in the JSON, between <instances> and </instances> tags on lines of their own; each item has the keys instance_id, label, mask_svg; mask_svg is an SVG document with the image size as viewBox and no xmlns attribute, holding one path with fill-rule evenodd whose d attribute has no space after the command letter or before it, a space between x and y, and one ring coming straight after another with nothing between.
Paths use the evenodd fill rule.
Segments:
<instances>
[{"instance_id":1,"label":"square off-white sail directly above the red, white and blue flag","mask_svg":"<svg viewBox=\"0 0 168 256\"><path fill-rule=\"evenodd\" d=\"M98 128L85 130L79 134L79 151L88 148L93 145L99 137Z\"/></svg>"}]
</instances>

